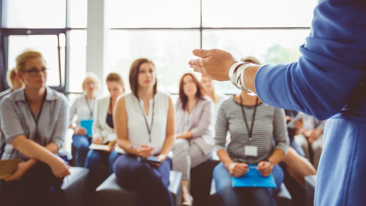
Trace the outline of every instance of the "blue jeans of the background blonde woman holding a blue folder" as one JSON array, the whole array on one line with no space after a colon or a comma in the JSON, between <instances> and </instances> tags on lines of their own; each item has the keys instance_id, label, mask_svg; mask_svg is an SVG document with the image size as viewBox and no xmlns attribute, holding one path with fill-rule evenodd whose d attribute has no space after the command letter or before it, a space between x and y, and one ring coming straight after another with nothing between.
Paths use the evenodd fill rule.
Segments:
<instances>
[{"instance_id":1,"label":"blue jeans of the background blonde woman holding a blue folder","mask_svg":"<svg viewBox=\"0 0 366 206\"><path fill-rule=\"evenodd\" d=\"M72 135L72 146L76 147L75 167L83 167L85 165L86 155L89 151L91 142L86 135Z\"/></svg>"}]
</instances>

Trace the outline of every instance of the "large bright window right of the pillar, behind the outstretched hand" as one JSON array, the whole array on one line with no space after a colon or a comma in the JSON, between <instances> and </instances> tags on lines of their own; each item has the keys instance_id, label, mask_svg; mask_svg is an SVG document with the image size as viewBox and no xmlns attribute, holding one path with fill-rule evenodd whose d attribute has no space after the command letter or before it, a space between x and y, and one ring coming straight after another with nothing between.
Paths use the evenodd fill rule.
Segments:
<instances>
[{"instance_id":1,"label":"large bright window right of the pillar, behind the outstretched hand","mask_svg":"<svg viewBox=\"0 0 366 206\"><path fill-rule=\"evenodd\" d=\"M195 48L224 49L237 59L255 56L264 64L296 61L316 4L317 0L109 0L108 70L120 72L127 82L135 59L152 59L160 88L176 93L180 76L193 71L187 61L194 58ZM217 82L215 87L237 92L230 82Z\"/></svg>"}]
</instances>

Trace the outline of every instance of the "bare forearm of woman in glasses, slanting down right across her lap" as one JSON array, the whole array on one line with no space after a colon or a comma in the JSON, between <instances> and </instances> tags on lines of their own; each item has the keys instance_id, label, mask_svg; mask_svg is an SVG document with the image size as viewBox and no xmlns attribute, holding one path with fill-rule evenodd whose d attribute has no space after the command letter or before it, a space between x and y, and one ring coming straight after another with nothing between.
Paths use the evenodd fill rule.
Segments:
<instances>
[{"instance_id":1,"label":"bare forearm of woman in glasses, slanting down right across her lap","mask_svg":"<svg viewBox=\"0 0 366 206\"><path fill-rule=\"evenodd\" d=\"M25 136L15 137L12 141L12 146L27 157L45 162L48 165L57 159L51 151L42 147L40 144L27 139Z\"/></svg>"}]
</instances>

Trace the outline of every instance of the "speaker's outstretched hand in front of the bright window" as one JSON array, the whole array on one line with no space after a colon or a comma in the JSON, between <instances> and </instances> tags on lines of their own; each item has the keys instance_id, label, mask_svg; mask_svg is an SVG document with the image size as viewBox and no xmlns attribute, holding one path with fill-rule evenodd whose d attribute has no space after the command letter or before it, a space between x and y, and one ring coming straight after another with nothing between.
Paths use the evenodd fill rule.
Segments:
<instances>
[{"instance_id":1,"label":"speaker's outstretched hand in front of the bright window","mask_svg":"<svg viewBox=\"0 0 366 206\"><path fill-rule=\"evenodd\" d=\"M194 49L193 54L199 58L191 59L189 66L202 77L217 81L228 81L230 67L237 62L229 52L220 49Z\"/></svg>"}]
</instances>

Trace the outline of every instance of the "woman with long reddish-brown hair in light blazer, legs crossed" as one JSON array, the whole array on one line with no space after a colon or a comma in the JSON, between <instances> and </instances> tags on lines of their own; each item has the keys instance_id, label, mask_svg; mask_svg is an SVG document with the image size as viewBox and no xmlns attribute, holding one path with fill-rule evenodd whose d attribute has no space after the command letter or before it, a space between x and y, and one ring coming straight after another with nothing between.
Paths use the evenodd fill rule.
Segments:
<instances>
[{"instance_id":1,"label":"woman with long reddish-brown hair in light blazer, legs crossed","mask_svg":"<svg viewBox=\"0 0 366 206\"><path fill-rule=\"evenodd\" d=\"M192 205L189 193L190 170L211 158L213 150L213 101L204 98L197 78L187 73L180 78L176 102L174 170L183 173L182 205Z\"/></svg>"}]
</instances>

